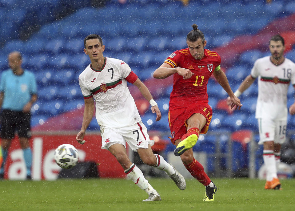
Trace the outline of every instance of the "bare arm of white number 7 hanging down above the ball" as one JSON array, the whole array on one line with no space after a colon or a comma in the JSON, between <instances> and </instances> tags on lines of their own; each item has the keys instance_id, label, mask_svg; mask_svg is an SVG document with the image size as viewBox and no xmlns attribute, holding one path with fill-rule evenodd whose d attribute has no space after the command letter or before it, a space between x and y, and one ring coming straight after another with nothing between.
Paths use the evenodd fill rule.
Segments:
<instances>
[{"instance_id":1,"label":"bare arm of white number 7 hanging down above the ball","mask_svg":"<svg viewBox=\"0 0 295 211\"><path fill-rule=\"evenodd\" d=\"M76 136L76 140L78 142L83 141L86 129L92 120L94 107L95 107L93 97L89 99L84 99L84 102L85 102L85 107L84 107L82 127L81 127L81 130L78 132L78 135Z\"/></svg>"}]
</instances>

